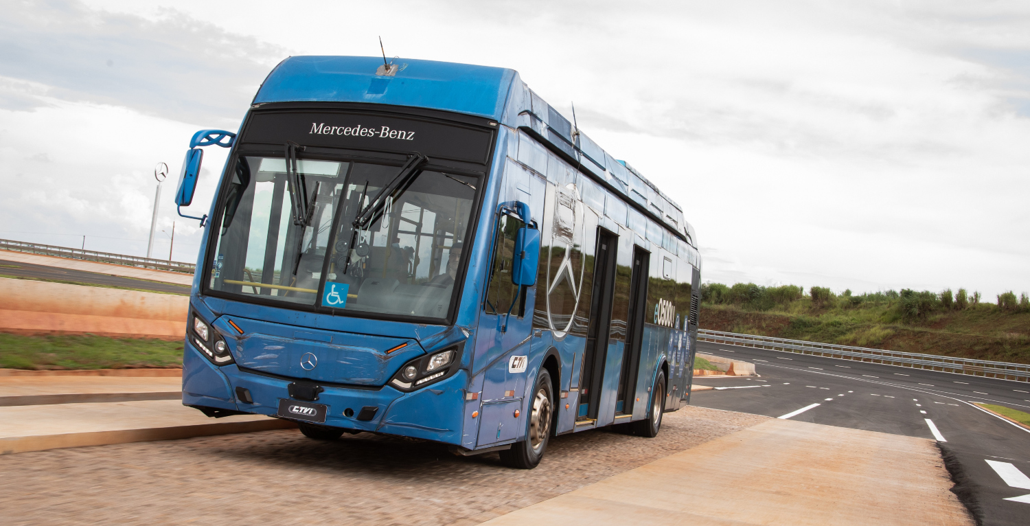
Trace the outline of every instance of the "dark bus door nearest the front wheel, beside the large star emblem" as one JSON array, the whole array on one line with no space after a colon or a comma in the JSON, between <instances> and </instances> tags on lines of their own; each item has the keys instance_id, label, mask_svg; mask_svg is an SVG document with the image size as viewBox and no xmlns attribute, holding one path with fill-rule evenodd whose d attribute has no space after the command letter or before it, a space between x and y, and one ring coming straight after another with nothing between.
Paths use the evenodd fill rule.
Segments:
<instances>
[{"instance_id":1,"label":"dark bus door nearest the front wheel, beside the large star emblem","mask_svg":"<svg viewBox=\"0 0 1030 526\"><path fill-rule=\"evenodd\" d=\"M619 238L597 229L597 246L593 258L593 293L590 294L590 325L586 347L580 361L580 405L578 421L596 420L600 392L605 380L605 362L612 322L612 300L615 293L616 252Z\"/></svg>"}]
</instances>

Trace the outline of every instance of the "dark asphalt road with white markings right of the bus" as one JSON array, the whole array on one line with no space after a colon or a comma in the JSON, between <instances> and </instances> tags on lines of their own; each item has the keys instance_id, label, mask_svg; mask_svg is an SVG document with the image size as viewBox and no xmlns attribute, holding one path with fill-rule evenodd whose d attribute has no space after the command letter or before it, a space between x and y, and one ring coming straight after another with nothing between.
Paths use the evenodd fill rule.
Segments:
<instances>
[{"instance_id":1,"label":"dark asphalt road with white markings right of the bus","mask_svg":"<svg viewBox=\"0 0 1030 526\"><path fill-rule=\"evenodd\" d=\"M959 482L956 491L983 524L1030 524L1030 431L972 405L1030 413L1030 384L703 342L697 347L753 362L759 378L696 377L695 384L716 389L695 391L691 405L936 439ZM1007 470L1016 487L988 460L1000 463L994 465ZM1023 495L1025 502L1005 500Z\"/></svg>"}]
</instances>

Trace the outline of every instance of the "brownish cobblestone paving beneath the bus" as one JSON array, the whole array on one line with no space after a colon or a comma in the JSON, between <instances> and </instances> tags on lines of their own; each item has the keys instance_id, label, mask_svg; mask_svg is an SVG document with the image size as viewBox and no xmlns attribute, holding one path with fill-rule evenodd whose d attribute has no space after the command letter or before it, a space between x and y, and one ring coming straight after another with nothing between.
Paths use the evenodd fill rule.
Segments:
<instances>
[{"instance_id":1,"label":"brownish cobblestone paving beneath the bus","mask_svg":"<svg viewBox=\"0 0 1030 526\"><path fill-rule=\"evenodd\" d=\"M297 430L0 457L0 517L23 524L477 524L767 417L688 407L655 439L591 430L552 439L536 469L369 433Z\"/></svg>"}]
</instances>

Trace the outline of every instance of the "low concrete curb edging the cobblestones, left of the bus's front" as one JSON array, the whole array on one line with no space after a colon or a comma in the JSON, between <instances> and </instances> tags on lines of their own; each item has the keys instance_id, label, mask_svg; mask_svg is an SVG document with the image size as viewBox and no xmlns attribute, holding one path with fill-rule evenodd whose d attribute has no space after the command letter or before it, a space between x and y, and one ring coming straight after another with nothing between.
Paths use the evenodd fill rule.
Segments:
<instances>
[{"instance_id":1,"label":"low concrete curb edging the cobblestones, left of the bus's front","mask_svg":"<svg viewBox=\"0 0 1030 526\"><path fill-rule=\"evenodd\" d=\"M13 436L0 439L0 455L46 451L52 449L81 448L84 446L110 446L133 442L174 441L216 434L291 429L295 422L270 418L250 422L219 422L214 424L182 425L175 427L154 427L149 429L126 429L119 431L92 431L66 434L44 434L37 436Z\"/></svg>"}]
</instances>

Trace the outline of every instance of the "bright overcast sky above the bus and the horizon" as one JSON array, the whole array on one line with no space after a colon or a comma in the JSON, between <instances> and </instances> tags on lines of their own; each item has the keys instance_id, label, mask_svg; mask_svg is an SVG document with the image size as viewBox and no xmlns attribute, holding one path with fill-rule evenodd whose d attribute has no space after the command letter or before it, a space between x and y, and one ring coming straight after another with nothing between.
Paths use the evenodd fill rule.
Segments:
<instances>
[{"instance_id":1,"label":"bright overcast sky above the bus and the horizon","mask_svg":"<svg viewBox=\"0 0 1030 526\"><path fill-rule=\"evenodd\" d=\"M196 261L174 184L298 55L508 67L677 201L702 280L1030 291L1030 2L0 0L0 238ZM190 215L226 150L207 148ZM83 239L84 237L84 239Z\"/></svg>"}]
</instances>

